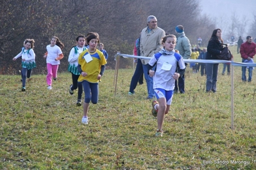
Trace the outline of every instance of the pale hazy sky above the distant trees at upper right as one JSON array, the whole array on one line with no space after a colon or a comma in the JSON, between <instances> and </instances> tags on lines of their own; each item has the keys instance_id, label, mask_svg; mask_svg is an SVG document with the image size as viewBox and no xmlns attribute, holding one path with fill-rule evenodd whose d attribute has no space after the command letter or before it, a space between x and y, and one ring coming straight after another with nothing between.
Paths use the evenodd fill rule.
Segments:
<instances>
[{"instance_id":1,"label":"pale hazy sky above the distant trees at upper right","mask_svg":"<svg viewBox=\"0 0 256 170\"><path fill-rule=\"evenodd\" d=\"M201 10L203 15L209 15L209 17L215 17L218 19L227 18L228 22L230 20L232 13L236 13L240 20L244 17L249 20L248 24L250 26L250 20L253 19L253 13L256 13L256 0L200 0ZM228 27L223 26L223 24L217 24L217 27L225 31ZM246 27L248 29L248 26ZM244 35L245 36L245 35Z\"/></svg>"}]
</instances>

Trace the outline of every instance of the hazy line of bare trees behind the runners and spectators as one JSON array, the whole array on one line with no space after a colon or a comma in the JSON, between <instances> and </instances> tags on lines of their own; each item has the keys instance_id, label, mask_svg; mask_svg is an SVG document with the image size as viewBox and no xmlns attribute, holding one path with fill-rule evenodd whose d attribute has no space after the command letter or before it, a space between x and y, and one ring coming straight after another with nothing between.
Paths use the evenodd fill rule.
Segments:
<instances>
[{"instance_id":1,"label":"hazy line of bare trees behind the runners and spectators","mask_svg":"<svg viewBox=\"0 0 256 170\"><path fill-rule=\"evenodd\" d=\"M46 73L43 54L52 36L58 36L65 44L59 71L66 72L69 51L76 44L76 36L87 35L90 31L99 33L100 42L109 54L107 66L114 69L114 55L118 50L123 54L133 53L135 40L146 27L149 15L157 17L158 27L166 33L175 34L175 27L182 24L191 43L201 36L205 40L203 45L207 45L216 27L209 17L200 15L199 3L198 0L2 1L0 74L15 74L21 69L21 62L12 61L12 58L21 51L26 38L35 40L37 68L33 72ZM121 68L127 65L121 62Z\"/></svg>"}]
</instances>

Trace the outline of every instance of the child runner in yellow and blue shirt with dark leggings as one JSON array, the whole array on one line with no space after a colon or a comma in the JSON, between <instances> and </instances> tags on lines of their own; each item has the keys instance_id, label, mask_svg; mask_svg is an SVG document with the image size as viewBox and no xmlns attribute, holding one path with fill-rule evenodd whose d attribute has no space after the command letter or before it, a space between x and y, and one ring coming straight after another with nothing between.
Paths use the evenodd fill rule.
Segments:
<instances>
[{"instance_id":1,"label":"child runner in yellow and blue shirt with dark leggings","mask_svg":"<svg viewBox=\"0 0 256 170\"><path fill-rule=\"evenodd\" d=\"M78 57L78 71L81 73L78 82L83 84L85 101L83 102L83 118L81 122L88 124L89 103L97 104L99 96L99 80L105 71L107 61L102 52L96 49L99 36L92 34L87 36L89 49L84 50Z\"/></svg>"}]
</instances>

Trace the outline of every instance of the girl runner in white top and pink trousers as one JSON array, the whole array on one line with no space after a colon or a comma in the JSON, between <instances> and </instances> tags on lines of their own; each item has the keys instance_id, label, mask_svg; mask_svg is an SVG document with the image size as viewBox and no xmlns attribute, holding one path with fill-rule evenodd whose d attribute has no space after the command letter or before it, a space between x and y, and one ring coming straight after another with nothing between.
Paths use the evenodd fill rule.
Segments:
<instances>
[{"instance_id":1,"label":"girl runner in white top and pink trousers","mask_svg":"<svg viewBox=\"0 0 256 170\"><path fill-rule=\"evenodd\" d=\"M44 54L44 58L46 58L47 63L47 89L53 89L51 87L52 81L57 80L58 65L60 65L60 59L64 58L62 49L64 49L64 43L60 42L56 36L53 36L51 38L51 44L46 46L47 52Z\"/></svg>"}]
</instances>

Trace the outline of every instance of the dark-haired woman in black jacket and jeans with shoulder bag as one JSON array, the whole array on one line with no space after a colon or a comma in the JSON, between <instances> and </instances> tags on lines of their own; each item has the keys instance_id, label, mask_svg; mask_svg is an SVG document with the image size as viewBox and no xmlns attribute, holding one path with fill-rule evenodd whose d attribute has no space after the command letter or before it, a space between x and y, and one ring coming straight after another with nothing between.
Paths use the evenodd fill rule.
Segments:
<instances>
[{"instance_id":1,"label":"dark-haired woman in black jacket and jeans with shoulder bag","mask_svg":"<svg viewBox=\"0 0 256 170\"><path fill-rule=\"evenodd\" d=\"M221 38L221 29L214 29L212 36L207 45L207 56L206 59L218 59L218 54L221 54L223 50L223 39ZM206 63L206 92L217 91L217 78L218 78L218 63Z\"/></svg>"}]
</instances>

